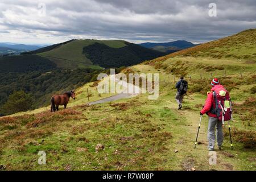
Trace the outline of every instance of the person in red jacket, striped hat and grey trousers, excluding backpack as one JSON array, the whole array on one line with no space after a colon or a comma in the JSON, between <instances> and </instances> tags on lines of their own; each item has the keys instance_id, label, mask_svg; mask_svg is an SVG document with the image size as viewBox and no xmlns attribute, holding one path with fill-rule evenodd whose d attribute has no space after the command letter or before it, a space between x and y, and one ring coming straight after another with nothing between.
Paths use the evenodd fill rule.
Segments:
<instances>
[{"instance_id":1,"label":"person in red jacket, striped hat and grey trousers, excluding backpack","mask_svg":"<svg viewBox=\"0 0 256 182\"><path fill-rule=\"evenodd\" d=\"M210 83L212 85L212 89L207 94L207 100L205 101L203 109L200 111L200 115L207 114L209 116L209 124L208 124L208 150L214 150L214 143L215 143L215 127L217 129L217 144L218 148L221 150L221 145L223 143L223 132L222 132L222 122L218 120L216 114L213 114L213 109L215 108L216 104L213 100L213 91L217 88L224 87L220 85L220 81L218 78L214 78Z\"/></svg>"}]
</instances>

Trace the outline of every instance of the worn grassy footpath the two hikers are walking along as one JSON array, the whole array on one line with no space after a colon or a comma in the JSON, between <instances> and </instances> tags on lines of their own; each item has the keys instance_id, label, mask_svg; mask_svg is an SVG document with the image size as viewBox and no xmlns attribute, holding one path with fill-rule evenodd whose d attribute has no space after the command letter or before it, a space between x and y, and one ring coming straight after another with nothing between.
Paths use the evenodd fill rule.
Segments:
<instances>
[{"instance_id":1,"label":"worn grassy footpath the two hikers are walking along","mask_svg":"<svg viewBox=\"0 0 256 182\"><path fill-rule=\"evenodd\" d=\"M198 166L201 165L203 169L207 168L207 170L233 170L233 164L231 164L228 160L226 160L227 156L224 155L224 154L229 154L228 147L225 147L224 151L220 151L216 149L215 151L217 154L217 164L216 165L209 164L210 156L209 156L209 151L207 147L208 145L207 115L204 115L202 118L199 137L197 140L197 143L199 144L197 144L196 149L194 149L193 147L195 145L195 139L196 139L196 133L199 126L200 115L195 113L195 111L193 110L187 110L187 109L177 110L177 103L175 101L166 101L166 102L167 102L168 108L174 111L177 115L182 115L182 117L185 117L188 122L188 126L185 126L186 133L185 135L183 134L185 136L185 139L183 140L184 143L181 146L178 146L183 148L183 150L187 150L185 155L181 154L181 158L184 158L184 163L188 163L190 167L192 167L193 165L190 164L192 160L193 164L197 164ZM185 105L186 104L183 104L183 106Z\"/></svg>"}]
</instances>

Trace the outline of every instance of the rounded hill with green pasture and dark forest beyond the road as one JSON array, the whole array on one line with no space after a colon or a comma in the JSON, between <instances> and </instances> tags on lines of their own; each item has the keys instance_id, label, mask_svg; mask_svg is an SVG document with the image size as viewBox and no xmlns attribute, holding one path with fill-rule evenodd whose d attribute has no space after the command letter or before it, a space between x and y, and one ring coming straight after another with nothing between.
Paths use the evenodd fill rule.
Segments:
<instances>
[{"instance_id":1,"label":"rounded hill with green pasture and dark forest beyond the road","mask_svg":"<svg viewBox=\"0 0 256 182\"><path fill-rule=\"evenodd\" d=\"M129 66L165 55L123 40L69 40L22 55L36 54L53 61L58 68L110 68ZM96 60L97 59L97 60Z\"/></svg>"}]
</instances>

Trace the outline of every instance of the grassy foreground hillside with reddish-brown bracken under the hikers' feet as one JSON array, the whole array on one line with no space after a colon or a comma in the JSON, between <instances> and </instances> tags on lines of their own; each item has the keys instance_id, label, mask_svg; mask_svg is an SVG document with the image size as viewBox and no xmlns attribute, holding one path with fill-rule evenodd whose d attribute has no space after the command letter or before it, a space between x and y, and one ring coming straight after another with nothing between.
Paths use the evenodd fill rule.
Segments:
<instances>
[{"instance_id":1,"label":"grassy foreground hillside with reddish-brown bracken under the hikers' feet","mask_svg":"<svg viewBox=\"0 0 256 182\"><path fill-rule=\"evenodd\" d=\"M87 102L87 84L77 90L83 92L67 110L49 113L47 108L27 112L30 115L19 113L16 117L1 118L0 164L6 165L6 169L36 170L191 170L192 167L196 170L255 170L256 94L250 90L256 86L255 68L254 62L238 61L235 57L213 59L206 56L197 59L162 57L135 65L130 68L135 72L159 73L158 100L147 100L147 95L142 94L86 106L82 104ZM189 81L189 97L184 99L183 110L176 109L174 100L174 78L177 81L180 70L187 72L185 78ZM213 166L208 163L207 116L203 117L199 134L199 142L203 144L193 150L199 111L210 89L210 73L229 88L234 102L231 123L234 150L230 150L225 125L224 150L217 150L217 165ZM95 88L93 93L93 100L101 98ZM250 100L243 104L248 98ZM98 143L104 144L105 150L96 152ZM81 148L84 151L81 152ZM47 153L45 166L37 163L40 150Z\"/></svg>"}]
</instances>

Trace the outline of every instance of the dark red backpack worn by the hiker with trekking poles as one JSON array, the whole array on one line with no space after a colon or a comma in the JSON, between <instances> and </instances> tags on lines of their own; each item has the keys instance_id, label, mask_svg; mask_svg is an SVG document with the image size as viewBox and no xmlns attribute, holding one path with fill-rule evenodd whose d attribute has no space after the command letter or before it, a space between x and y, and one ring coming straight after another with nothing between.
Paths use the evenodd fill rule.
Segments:
<instances>
[{"instance_id":1,"label":"dark red backpack worn by the hiker with trekking poles","mask_svg":"<svg viewBox=\"0 0 256 182\"><path fill-rule=\"evenodd\" d=\"M213 108L212 111L217 115L218 120L222 121L224 124L224 121L231 119L232 113L232 103L228 90L223 87L215 89L213 92L213 101L216 107Z\"/></svg>"}]
</instances>

